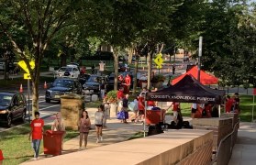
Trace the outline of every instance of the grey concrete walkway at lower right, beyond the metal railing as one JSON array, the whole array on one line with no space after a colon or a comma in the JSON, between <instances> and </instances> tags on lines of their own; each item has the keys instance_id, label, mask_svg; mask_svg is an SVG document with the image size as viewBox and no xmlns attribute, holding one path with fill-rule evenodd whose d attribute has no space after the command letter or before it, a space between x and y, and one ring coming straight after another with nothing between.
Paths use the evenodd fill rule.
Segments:
<instances>
[{"instance_id":1,"label":"grey concrete walkway at lower right, beyond the metal railing","mask_svg":"<svg viewBox=\"0 0 256 165\"><path fill-rule=\"evenodd\" d=\"M239 134L228 165L256 164L256 123L241 122Z\"/></svg>"}]
</instances>

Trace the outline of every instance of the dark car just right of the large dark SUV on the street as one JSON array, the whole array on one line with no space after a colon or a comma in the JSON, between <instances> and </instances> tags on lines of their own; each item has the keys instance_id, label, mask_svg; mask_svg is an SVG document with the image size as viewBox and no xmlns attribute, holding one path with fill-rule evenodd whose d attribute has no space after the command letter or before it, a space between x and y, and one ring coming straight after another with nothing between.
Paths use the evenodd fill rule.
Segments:
<instances>
[{"instance_id":1,"label":"dark car just right of the large dark SUV on the street","mask_svg":"<svg viewBox=\"0 0 256 165\"><path fill-rule=\"evenodd\" d=\"M83 84L83 90L88 90L90 93L100 93L101 85L108 80L107 76L91 75L90 78ZM102 83L104 82L104 83ZM85 92L84 92L85 93Z\"/></svg>"}]
</instances>

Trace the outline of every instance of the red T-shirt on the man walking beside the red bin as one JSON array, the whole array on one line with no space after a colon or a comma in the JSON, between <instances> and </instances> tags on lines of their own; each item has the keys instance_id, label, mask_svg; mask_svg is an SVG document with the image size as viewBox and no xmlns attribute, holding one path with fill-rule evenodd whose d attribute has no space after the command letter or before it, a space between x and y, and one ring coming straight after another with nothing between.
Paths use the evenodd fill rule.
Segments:
<instances>
[{"instance_id":1,"label":"red T-shirt on the man walking beside the red bin","mask_svg":"<svg viewBox=\"0 0 256 165\"><path fill-rule=\"evenodd\" d=\"M42 139L43 119L34 119L30 126L32 128L32 139Z\"/></svg>"}]
</instances>

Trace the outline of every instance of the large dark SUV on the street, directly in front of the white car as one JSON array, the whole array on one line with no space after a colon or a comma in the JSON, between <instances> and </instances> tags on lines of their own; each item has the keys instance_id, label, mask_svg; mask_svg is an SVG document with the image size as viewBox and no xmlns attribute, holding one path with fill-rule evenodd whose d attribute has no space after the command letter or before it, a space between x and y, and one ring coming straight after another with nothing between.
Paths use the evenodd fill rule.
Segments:
<instances>
[{"instance_id":1,"label":"large dark SUV on the street, directly in front of the white car","mask_svg":"<svg viewBox=\"0 0 256 165\"><path fill-rule=\"evenodd\" d=\"M50 83L50 88L45 92L45 102L50 103L50 100L60 101L61 95L67 93L82 94L82 85L77 79L58 78Z\"/></svg>"}]
</instances>

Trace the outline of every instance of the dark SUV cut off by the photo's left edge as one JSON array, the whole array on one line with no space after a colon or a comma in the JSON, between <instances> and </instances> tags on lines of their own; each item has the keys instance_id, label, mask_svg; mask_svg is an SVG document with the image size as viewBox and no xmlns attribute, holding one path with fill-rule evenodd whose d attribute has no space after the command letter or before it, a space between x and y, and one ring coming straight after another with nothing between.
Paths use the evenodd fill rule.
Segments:
<instances>
[{"instance_id":1,"label":"dark SUV cut off by the photo's left edge","mask_svg":"<svg viewBox=\"0 0 256 165\"><path fill-rule=\"evenodd\" d=\"M16 119L24 122L26 111L26 98L22 93L0 93L0 123L11 126Z\"/></svg>"}]
</instances>

